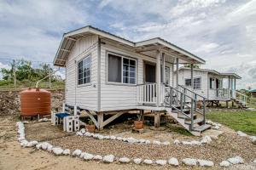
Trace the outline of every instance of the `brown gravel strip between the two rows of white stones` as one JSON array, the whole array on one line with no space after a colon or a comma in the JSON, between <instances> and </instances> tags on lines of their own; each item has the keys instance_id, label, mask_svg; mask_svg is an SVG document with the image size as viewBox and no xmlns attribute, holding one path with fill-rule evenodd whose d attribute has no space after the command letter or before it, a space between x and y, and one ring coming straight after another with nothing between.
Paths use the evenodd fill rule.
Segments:
<instances>
[{"instance_id":1,"label":"brown gravel strip between the two rows of white stones","mask_svg":"<svg viewBox=\"0 0 256 170\"><path fill-rule=\"evenodd\" d=\"M54 139L50 143L71 150L80 149L93 154L113 154L119 157L165 159L174 156L179 160L191 157L207 159L215 163L224 161L231 156L241 156L246 162L252 162L256 157L255 145L246 138L238 138L234 133L224 133L217 141L204 146L126 144L120 141L98 140L79 136Z\"/></svg>"}]
</instances>

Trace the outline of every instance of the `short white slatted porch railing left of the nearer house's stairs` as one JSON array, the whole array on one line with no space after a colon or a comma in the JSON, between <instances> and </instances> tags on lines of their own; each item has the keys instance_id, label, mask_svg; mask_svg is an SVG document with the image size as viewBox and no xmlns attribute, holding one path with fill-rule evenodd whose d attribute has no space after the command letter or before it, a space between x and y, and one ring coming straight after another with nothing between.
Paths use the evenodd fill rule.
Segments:
<instances>
[{"instance_id":1,"label":"short white slatted porch railing left of the nearer house's stairs","mask_svg":"<svg viewBox=\"0 0 256 170\"><path fill-rule=\"evenodd\" d=\"M137 85L137 103L138 104L157 104L157 83L147 83ZM163 104L165 99L165 86L161 84L160 88L160 105Z\"/></svg>"}]
</instances>

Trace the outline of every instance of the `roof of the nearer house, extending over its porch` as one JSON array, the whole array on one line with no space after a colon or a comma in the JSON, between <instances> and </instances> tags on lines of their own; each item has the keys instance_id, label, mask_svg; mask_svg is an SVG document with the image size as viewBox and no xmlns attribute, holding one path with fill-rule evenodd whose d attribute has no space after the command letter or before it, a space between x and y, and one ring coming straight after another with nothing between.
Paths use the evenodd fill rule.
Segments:
<instances>
[{"instance_id":1,"label":"roof of the nearer house, extending over its porch","mask_svg":"<svg viewBox=\"0 0 256 170\"><path fill-rule=\"evenodd\" d=\"M69 31L63 34L60 46L55 54L54 65L65 66L67 56L72 50L76 40L78 40L80 37L86 37L88 35L97 35L100 38L108 38L112 41L119 42L125 46L134 48L135 52L139 54L143 54L149 50L160 50L165 54L183 59L188 63L205 64L206 62L204 59L195 56L195 54L191 54L183 48L179 48L160 37L155 37L142 42L131 42L123 37L115 36L107 31L102 31L93 26L84 26L77 30Z\"/></svg>"}]
</instances>

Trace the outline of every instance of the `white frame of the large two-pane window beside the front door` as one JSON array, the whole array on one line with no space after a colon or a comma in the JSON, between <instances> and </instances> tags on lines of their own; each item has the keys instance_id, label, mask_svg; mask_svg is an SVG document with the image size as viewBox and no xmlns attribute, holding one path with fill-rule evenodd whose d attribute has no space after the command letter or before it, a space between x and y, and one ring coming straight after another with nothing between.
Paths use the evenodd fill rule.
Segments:
<instances>
[{"instance_id":1,"label":"white frame of the large two-pane window beside the front door","mask_svg":"<svg viewBox=\"0 0 256 170\"><path fill-rule=\"evenodd\" d=\"M117 57L120 57L121 58L121 82L108 82L108 54L113 54ZM124 82L124 59L131 59L131 60L134 60L135 61L135 83L125 83ZM110 52L110 51L107 51L106 53L106 63L107 63L107 66L106 66L106 82L107 84L113 84L113 85L122 85L122 86L137 86L137 59L135 58L132 58L130 56L126 56L124 54L117 54L117 53L114 53L114 52ZM129 71L129 74L130 74L130 71Z\"/></svg>"}]
</instances>

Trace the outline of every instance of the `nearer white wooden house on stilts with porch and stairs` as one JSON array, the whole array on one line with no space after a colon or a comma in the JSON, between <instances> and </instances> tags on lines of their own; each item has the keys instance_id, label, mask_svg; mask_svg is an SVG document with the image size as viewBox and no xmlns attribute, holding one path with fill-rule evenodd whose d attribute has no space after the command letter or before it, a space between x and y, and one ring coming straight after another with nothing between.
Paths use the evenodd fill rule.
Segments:
<instances>
[{"instance_id":1,"label":"nearer white wooden house on stilts with porch and stairs","mask_svg":"<svg viewBox=\"0 0 256 170\"><path fill-rule=\"evenodd\" d=\"M205 109L184 105L188 95L174 88L179 64L205 60L160 37L131 42L92 26L65 33L54 59L66 68L66 105L86 111L98 129L127 111L154 111L155 127L165 112L198 135L210 126Z\"/></svg>"}]
</instances>

